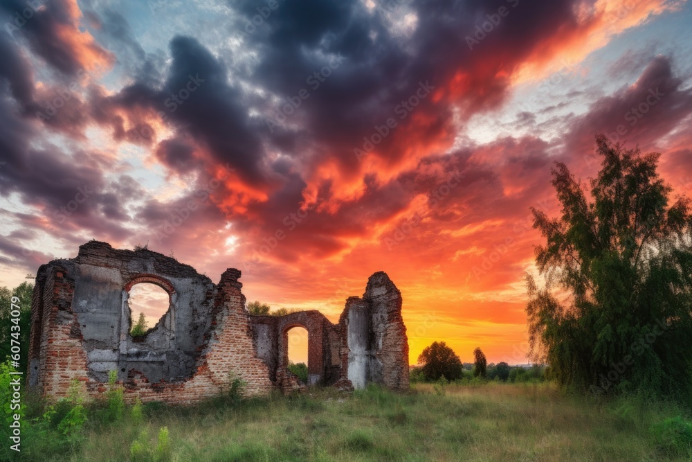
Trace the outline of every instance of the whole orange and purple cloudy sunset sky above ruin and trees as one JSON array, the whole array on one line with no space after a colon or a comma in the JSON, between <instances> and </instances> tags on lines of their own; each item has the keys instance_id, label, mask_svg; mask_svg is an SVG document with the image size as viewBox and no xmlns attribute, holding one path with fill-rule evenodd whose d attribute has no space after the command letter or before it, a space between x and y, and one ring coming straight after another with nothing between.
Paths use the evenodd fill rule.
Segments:
<instances>
[{"instance_id":1,"label":"whole orange and purple cloudy sunset sky above ruin and trees","mask_svg":"<svg viewBox=\"0 0 692 462\"><path fill-rule=\"evenodd\" d=\"M0 19L0 285L92 238L148 243L336 321L382 270L412 364L435 340L524 363L554 161L594 175L605 132L692 186L686 1L2 0Z\"/></svg>"}]
</instances>

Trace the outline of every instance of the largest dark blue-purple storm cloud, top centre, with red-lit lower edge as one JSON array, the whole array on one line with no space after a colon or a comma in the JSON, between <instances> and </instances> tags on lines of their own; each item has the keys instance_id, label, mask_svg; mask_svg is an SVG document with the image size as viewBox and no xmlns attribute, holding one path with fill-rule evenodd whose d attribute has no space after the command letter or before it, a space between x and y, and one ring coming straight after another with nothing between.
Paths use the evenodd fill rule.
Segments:
<instances>
[{"instance_id":1,"label":"largest dark blue-purple storm cloud, top centre, with red-lit lower edge","mask_svg":"<svg viewBox=\"0 0 692 462\"><path fill-rule=\"evenodd\" d=\"M339 159L344 175L361 168L354 148L363 145L363 136L370 136L375 126L385 124L388 118L397 118L395 108L415 95L419 82L430 82L440 96L422 100L415 112L407 114L408 120L397 118L406 128L385 137L376 155L396 162L408 152L411 138L415 138L413 144L421 145L449 139L453 105L463 101L466 116L496 107L509 86L507 75L536 46L555 39L561 28L576 28L572 1L394 3L392 15L406 8L417 15L416 30L410 37L390 31L386 8L371 14L361 2L318 3L319 8L304 8L302 3L280 2L248 34L248 41L255 42L260 52L253 80L282 97L279 105L265 106L266 118L271 120L286 98L294 97L300 89L310 89L307 79L331 57L346 57L318 89L310 91L293 119L289 118L286 125L279 123L273 133L266 133L279 148L300 145L299 140L306 137L320 148L329 146L329 154ZM245 19L257 15L254 2L240 6L233 2L233 6ZM509 15L470 50L467 37L473 36L475 26L480 26L487 15L495 15L501 7L507 8ZM238 27L247 27L248 23L242 24ZM294 31L290 38L289 31ZM463 73L464 78L455 88L450 81L457 73ZM426 123L411 127L413 115ZM297 131L289 128L295 120L304 120ZM407 131L410 136L400 133ZM300 156L301 152L291 155ZM313 162L323 160L318 156Z\"/></svg>"}]
</instances>

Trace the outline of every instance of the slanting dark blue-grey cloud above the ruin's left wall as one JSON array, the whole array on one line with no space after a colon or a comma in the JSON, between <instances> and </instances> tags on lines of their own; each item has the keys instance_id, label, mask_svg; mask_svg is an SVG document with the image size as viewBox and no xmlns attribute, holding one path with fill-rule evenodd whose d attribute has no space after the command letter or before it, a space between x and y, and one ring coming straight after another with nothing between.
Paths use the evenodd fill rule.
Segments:
<instances>
[{"instance_id":1,"label":"slanting dark blue-grey cloud above the ruin's left wall","mask_svg":"<svg viewBox=\"0 0 692 462\"><path fill-rule=\"evenodd\" d=\"M170 52L172 65L163 89L136 82L114 96L94 95L91 113L95 120L112 125L116 139L146 141L152 128L143 124L126 132L122 116L115 109L124 109L135 121L140 116L138 111L154 111L181 134L192 136L211 154L212 161L228 163L248 183L264 183L258 128L246 114L241 91L229 85L225 64L191 37L174 37ZM180 149L170 152L166 145L159 149L159 159L170 161L170 168L180 172L192 168L185 165L185 161L192 160L191 155Z\"/></svg>"}]
</instances>

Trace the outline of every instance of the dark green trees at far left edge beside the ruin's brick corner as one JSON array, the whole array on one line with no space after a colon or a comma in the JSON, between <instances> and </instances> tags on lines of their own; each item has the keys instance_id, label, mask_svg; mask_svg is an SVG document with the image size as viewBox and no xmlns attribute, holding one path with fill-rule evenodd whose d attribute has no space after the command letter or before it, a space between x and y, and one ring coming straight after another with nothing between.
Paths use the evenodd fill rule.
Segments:
<instances>
[{"instance_id":1,"label":"dark green trees at far left edge beside the ruin's brick corner","mask_svg":"<svg viewBox=\"0 0 692 462\"><path fill-rule=\"evenodd\" d=\"M12 333L19 332L19 371L26 371L29 357L29 328L31 327L31 299L34 292L34 285L28 282L19 284L12 290L7 287L0 287L0 362L8 360L12 354L10 339ZM12 297L19 299L19 330L12 326L17 326L12 321ZM16 338L15 338L16 339Z\"/></svg>"}]
</instances>

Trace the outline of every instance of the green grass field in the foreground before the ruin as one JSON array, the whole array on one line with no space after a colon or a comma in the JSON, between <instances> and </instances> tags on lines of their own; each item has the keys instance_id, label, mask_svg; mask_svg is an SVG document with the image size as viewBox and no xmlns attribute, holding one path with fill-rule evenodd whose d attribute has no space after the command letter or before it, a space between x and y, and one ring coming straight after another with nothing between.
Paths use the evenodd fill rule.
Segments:
<instances>
[{"instance_id":1,"label":"green grass field in the foreground before the ruin","mask_svg":"<svg viewBox=\"0 0 692 462\"><path fill-rule=\"evenodd\" d=\"M680 414L674 405L599 404L565 396L550 384L417 384L409 393L314 389L302 396L219 399L187 408L145 405L143 411L133 417L128 407L117 423L90 418L82 436L62 447L45 434L33 443L28 434L23 456L40 461L149 461L157 453L172 461L654 461L690 460L691 454L666 454L650 432L653 423Z\"/></svg>"}]
</instances>

